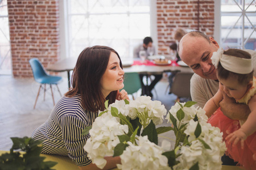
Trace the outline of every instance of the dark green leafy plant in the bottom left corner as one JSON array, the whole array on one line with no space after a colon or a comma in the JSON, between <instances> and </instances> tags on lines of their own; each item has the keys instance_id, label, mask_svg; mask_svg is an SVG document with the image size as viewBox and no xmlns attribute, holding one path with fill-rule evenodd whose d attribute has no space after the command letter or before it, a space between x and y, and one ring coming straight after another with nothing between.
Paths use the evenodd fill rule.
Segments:
<instances>
[{"instance_id":1,"label":"dark green leafy plant in the bottom left corner","mask_svg":"<svg viewBox=\"0 0 256 170\"><path fill-rule=\"evenodd\" d=\"M56 162L43 160L45 157L40 156L42 150L42 141L35 141L34 139L23 138L11 138L13 141L13 147L10 149L10 153L2 154L0 156L0 170L4 169L19 169L19 170L44 170L51 169ZM23 151L24 154L19 151Z\"/></svg>"}]
</instances>

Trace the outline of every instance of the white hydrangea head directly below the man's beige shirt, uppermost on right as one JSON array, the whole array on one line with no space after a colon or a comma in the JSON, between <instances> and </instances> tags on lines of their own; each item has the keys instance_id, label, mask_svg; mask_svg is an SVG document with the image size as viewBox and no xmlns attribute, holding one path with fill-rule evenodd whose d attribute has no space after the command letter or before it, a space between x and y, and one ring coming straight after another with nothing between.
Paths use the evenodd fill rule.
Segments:
<instances>
[{"instance_id":1,"label":"white hydrangea head directly below the man's beige shirt, uppermost on right","mask_svg":"<svg viewBox=\"0 0 256 170\"><path fill-rule=\"evenodd\" d=\"M194 105L192 105L191 107L184 107L185 103L180 103L180 104L183 105L183 112L185 113L183 120L181 120L180 122L180 125L187 124L190 120L193 120L196 114L199 122L207 121L208 117L205 115L204 109L200 107L195 108ZM179 124L179 120L177 119L177 111L179 111L179 109L181 109L179 103L175 103L175 105L173 105L169 111L172 114L172 116L176 118L177 125ZM167 113L166 119L167 119L167 122L172 122L170 119L169 112Z\"/></svg>"}]
</instances>

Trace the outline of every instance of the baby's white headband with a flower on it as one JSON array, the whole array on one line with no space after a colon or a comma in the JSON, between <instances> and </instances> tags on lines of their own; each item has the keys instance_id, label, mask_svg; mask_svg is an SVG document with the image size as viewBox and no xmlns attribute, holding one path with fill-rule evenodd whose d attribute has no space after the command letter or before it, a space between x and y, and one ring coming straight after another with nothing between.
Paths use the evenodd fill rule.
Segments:
<instances>
[{"instance_id":1,"label":"baby's white headband with a flower on it","mask_svg":"<svg viewBox=\"0 0 256 170\"><path fill-rule=\"evenodd\" d=\"M210 58L212 59L212 63L216 69L218 67L218 63L220 62L224 69L232 71L233 73L249 74L251 71L253 71L251 59L228 56L223 53L224 50L219 48L217 52L213 52L212 57Z\"/></svg>"}]
</instances>

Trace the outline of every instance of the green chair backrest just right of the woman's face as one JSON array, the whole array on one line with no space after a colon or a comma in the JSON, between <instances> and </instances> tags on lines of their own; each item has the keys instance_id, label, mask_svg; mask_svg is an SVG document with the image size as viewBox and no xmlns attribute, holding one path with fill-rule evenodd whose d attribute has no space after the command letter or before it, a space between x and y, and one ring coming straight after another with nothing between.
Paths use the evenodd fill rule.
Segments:
<instances>
[{"instance_id":1,"label":"green chair backrest just right of the woman's face","mask_svg":"<svg viewBox=\"0 0 256 170\"><path fill-rule=\"evenodd\" d=\"M141 88L141 80L139 79L138 73L125 73L123 84L124 90L126 90L127 94L134 94Z\"/></svg>"}]
</instances>

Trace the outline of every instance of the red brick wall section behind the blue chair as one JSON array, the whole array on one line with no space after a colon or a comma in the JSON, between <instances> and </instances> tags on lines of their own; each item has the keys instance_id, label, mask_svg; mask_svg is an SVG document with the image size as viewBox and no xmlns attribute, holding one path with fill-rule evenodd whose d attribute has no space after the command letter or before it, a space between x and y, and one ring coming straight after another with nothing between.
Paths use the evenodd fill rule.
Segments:
<instances>
[{"instance_id":1,"label":"red brick wall section behind the blue chair","mask_svg":"<svg viewBox=\"0 0 256 170\"><path fill-rule=\"evenodd\" d=\"M31 58L46 67L59 59L59 1L8 0L15 78L32 77Z\"/></svg>"}]
</instances>

